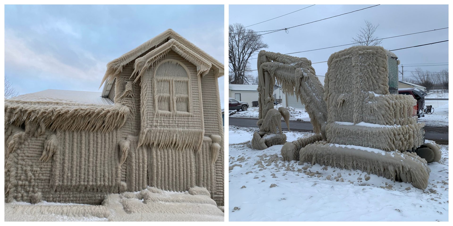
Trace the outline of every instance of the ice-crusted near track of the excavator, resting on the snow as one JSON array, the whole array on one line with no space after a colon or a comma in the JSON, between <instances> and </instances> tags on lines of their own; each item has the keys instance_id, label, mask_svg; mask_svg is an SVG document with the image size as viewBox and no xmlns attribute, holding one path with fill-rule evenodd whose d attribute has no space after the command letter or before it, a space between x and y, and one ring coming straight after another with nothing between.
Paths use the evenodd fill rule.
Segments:
<instances>
[{"instance_id":1,"label":"ice-crusted near track of the excavator, resting on the snow","mask_svg":"<svg viewBox=\"0 0 453 226\"><path fill-rule=\"evenodd\" d=\"M382 151L376 153L360 146L342 146L317 141L302 148L301 162L328 165L341 169L361 170L367 174L403 181L415 188L428 186L429 170L426 160L410 152Z\"/></svg>"}]
</instances>

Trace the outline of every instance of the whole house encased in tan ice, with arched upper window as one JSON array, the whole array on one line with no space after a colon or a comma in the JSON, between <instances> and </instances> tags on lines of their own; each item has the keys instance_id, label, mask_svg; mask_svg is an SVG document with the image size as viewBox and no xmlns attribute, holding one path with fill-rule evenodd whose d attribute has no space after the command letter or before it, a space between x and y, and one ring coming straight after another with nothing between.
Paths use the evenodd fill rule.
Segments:
<instances>
[{"instance_id":1,"label":"whole house encased in tan ice, with arched upper window","mask_svg":"<svg viewBox=\"0 0 453 226\"><path fill-rule=\"evenodd\" d=\"M169 29L107 64L99 93L5 99L5 200L100 204L147 186L223 206L222 63Z\"/></svg>"}]
</instances>

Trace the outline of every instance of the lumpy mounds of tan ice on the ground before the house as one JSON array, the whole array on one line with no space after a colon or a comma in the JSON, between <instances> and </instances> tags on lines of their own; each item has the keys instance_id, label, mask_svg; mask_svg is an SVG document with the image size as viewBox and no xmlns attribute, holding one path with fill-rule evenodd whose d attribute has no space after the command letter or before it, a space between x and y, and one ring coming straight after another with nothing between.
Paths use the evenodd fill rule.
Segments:
<instances>
[{"instance_id":1,"label":"lumpy mounds of tan ice on the ground before the house","mask_svg":"<svg viewBox=\"0 0 453 226\"><path fill-rule=\"evenodd\" d=\"M223 212L206 188L171 193L148 187L109 194L102 205L5 204L6 221L223 221ZM56 205L55 205L56 204Z\"/></svg>"}]
</instances>

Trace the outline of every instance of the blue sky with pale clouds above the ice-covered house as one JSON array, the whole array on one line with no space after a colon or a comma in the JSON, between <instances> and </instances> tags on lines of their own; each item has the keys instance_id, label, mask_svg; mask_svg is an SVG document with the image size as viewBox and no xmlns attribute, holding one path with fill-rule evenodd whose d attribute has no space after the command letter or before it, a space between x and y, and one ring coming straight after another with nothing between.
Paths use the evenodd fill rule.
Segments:
<instances>
[{"instance_id":1,"label":"blue sky with pale clouds above the ice-covered house","mask_svg":"<svg viewBox=\"0 0 453 226\"><path fill-rule=\"evenodd\" d=\"M101 92L109 61L168 28L224 63L223 10L223 5L5 5L5 76L19 94Z\"/></svg>"}]
</instances>

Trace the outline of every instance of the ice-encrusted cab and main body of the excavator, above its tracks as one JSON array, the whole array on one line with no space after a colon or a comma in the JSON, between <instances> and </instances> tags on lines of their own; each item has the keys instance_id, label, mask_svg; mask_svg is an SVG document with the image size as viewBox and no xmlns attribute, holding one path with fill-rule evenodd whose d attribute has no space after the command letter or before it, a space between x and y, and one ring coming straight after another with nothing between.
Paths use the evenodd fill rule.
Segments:
<instances>
[{"instance_id":1,"label":"ice-encrusted cab and main body of the excavator, above its tracks","mask_svg":"<svg viewBox=\"0 0 453 226\"><path fill-rule=\"evenodd\" d=\"M384 48L369 46L350 47L329 57L324 79L328 142L385 151L423 144L424 123L414 117L415 99L389 94L387 57Z\"/></svg>"}]
</instances>

